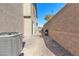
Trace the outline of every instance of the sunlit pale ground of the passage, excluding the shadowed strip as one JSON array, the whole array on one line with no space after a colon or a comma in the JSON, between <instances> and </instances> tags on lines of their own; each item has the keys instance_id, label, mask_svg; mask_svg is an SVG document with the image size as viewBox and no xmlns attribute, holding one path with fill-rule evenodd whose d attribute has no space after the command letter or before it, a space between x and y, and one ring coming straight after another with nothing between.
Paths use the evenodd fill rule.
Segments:
<instances>
[{"instance_id":1,"label":"sunlit pale ground of the passage, excluding the shadowed strip","mask_svg":"<svg viewBox=\"0 0 79 59\"><path fill-rule=\"evenodd\" d=\"M51 56L54 55L45 45L40 36L33 36L25 40L23 49L24 56Z\"/></svg>"}]
</instances>

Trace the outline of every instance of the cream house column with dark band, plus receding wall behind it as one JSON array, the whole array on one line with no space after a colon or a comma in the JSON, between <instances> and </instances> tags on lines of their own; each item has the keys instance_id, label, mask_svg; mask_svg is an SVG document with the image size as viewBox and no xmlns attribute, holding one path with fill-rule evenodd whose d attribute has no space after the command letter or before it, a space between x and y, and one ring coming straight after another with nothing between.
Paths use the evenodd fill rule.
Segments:
<instances>
[{"instance_id":1,"label":"cream house column with dark band, plus receding wall behind it","mask_svg":"<svg viewBox=\"0 0 79 59\"><path fill-rule=\"evenodd\" d=\"M29 37L34 34L34 24L36 22L36 9L32 3L23 4L24 16L24 36Z\"/></svg>"}]
</instances>

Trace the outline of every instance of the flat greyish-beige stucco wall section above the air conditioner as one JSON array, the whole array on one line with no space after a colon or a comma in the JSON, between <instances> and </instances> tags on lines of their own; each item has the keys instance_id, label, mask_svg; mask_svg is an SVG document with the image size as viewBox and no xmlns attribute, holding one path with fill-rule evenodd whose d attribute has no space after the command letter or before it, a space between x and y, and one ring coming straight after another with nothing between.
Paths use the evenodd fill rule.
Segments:
<instances>
[{"instance_id":1,"label":"flat greyish-beige stucco wall section above the air conditioner","mask_svg":"<svg viewBox=\"0 0 79 59\"><path fill-rule=\"evenodd\" d=\"M0 3L0 32L24 32L23 4Z\"/></svg>"}]
</instances>

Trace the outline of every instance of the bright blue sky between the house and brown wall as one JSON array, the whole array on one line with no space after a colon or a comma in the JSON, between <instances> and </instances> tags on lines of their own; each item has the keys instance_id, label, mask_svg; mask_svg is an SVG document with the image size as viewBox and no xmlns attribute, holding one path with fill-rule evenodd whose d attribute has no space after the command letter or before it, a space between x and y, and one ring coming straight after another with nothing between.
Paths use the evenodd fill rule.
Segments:
<instances>
[{"instance_id":1,"label":"bright blue sky between the house and brown wall","mask_svg":"<svg viewBox=\"0 0 79 59\"><path fill-rule=\"evenodd\" d=\"M43 26L47 21L44 17L48 14L55 15L64 7L64 3L37 3L38 26Z\"/></svg>"}]
</instances>

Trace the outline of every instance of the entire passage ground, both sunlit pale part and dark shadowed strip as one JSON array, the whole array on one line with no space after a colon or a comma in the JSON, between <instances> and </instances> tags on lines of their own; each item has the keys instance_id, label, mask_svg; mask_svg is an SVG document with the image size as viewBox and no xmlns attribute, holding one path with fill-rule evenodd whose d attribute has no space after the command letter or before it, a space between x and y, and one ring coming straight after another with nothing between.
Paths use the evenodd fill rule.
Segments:
<instances>
[{"instance_id":1,"label":"entire passage ground, both sunlit pale part and dark shadowed strip","mask_svg":"<svg viewBox=\"0 0 79 59\"><path fill-rule=\"evenodd\" d=\"M42 35L35 35L30 39L25 38L24 41L24 56L71 55L55 41L49 39L48 37L42 37Z\"/></svg>"}]
</instances>

